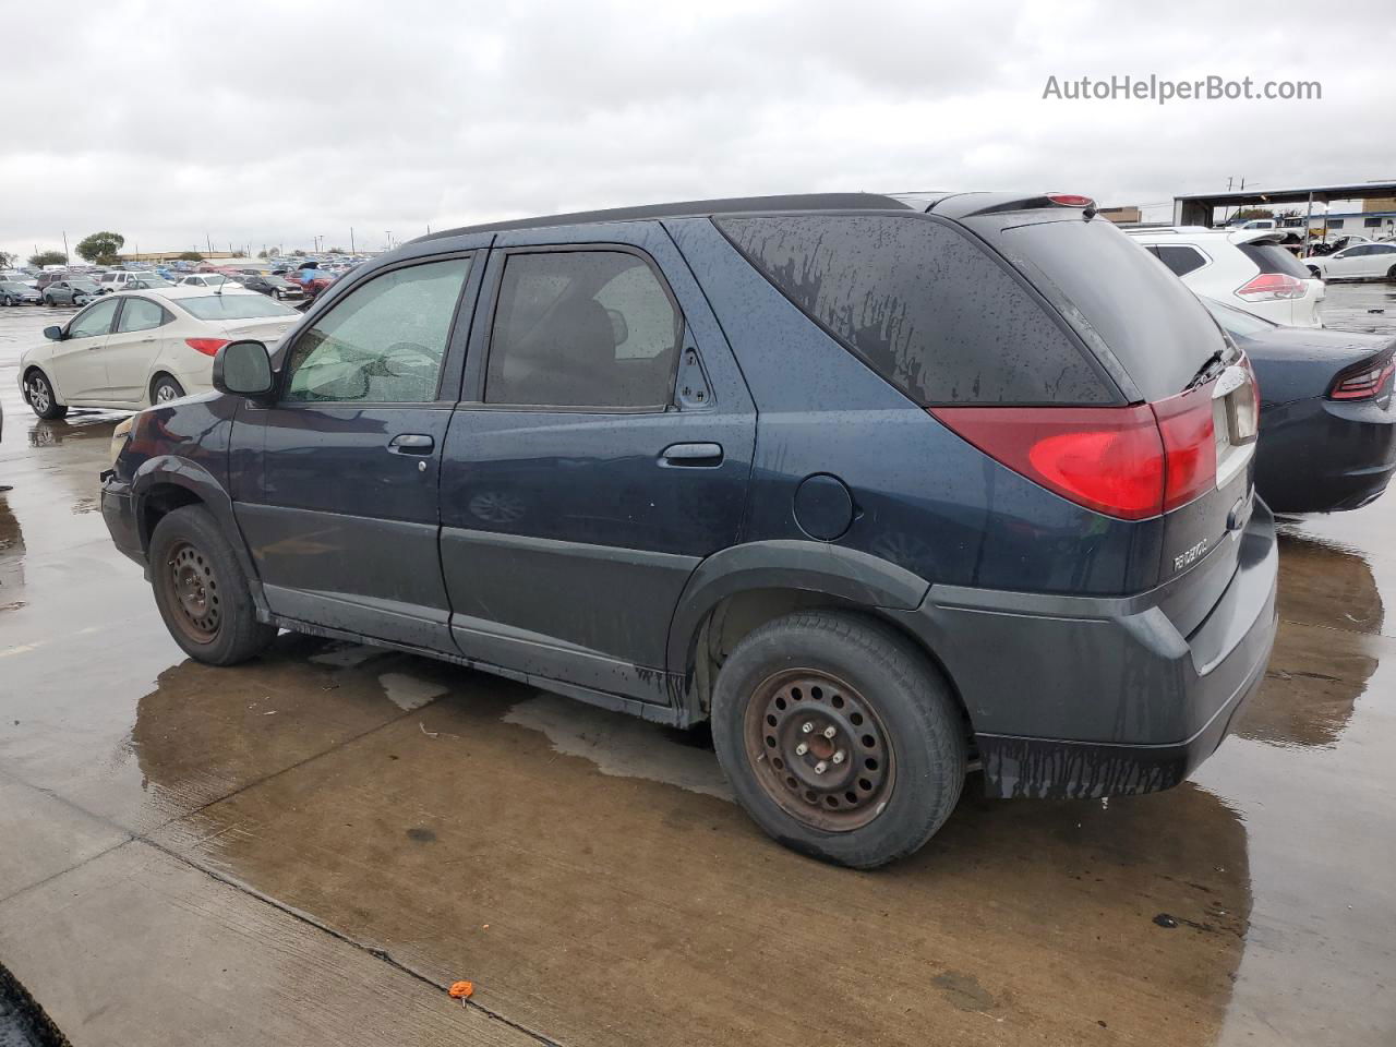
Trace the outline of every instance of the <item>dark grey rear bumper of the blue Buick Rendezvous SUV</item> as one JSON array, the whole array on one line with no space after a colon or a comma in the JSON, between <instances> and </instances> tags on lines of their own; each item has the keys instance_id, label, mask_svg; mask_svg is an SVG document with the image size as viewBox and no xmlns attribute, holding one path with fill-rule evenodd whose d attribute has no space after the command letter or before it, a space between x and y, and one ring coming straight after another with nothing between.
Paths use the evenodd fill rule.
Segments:
<instances>
[{"instance_id":1,"label":"dark grey rear bumper of the blue Buick Rendezvous SUV","mask_svg":"<svg viewBox=\"0 0 1396 1047\"><path fill-rule=\"evenodd\" d=\"M1168 789L1206 759L1259 688L1275 644L1279 551L1256 504L1237 570L1184 637L1167 586L1061 597L933 586L906 624L935 651L974 726L994 797Z\"/></svg>"}]
</instances>

